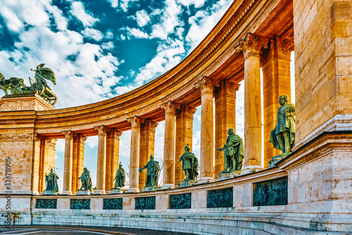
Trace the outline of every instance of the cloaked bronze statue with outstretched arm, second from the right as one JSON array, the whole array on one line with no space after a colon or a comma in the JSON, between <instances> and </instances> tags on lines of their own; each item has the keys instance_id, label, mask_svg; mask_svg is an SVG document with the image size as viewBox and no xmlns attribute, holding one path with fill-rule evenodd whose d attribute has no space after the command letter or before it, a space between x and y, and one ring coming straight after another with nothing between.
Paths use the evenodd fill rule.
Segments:
<instances>
[{"instance_id":1,"label":"cloaked bronze statue with outstretched arm, second from the right","mask_svg":"<svg viewBox=\"0 0 352 235\"><path fill-rule=\"evenodd\" d=\"M241 171L244 158L243 140L237 134L234 134L234 129L227 131L226 144L222 148L216 148L217 151L225 151L224 170L220 174Z\"/></svg>"}]
</instances>

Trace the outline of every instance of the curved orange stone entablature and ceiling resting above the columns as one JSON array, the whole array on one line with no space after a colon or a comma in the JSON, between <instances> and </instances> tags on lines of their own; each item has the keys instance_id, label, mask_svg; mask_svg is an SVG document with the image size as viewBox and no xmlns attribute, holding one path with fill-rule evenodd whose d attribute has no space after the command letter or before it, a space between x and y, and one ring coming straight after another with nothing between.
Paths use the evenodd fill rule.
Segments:
<instances>
[{"instance_id":1,"label":"curved orange stone entablature and ceiling resting above the columns","mask_svg":"<svg viewBox=\"0 0 352 235\"><path fill-rule=\"evenodd\" d=\"M86 136L96 135L98 125L120 131L131 128L126 118L160 122L165 119L161 103L175 101L189 106L201 104L201 92L194 83L207 76L215 82L244 79L244 56L234 46L251 32L260 37L294 40L292 0L240 0L215 25L201 44L180 64L142 87L113 99L74 108L47 111L6 112L0 115L0 129L33 128L51 138L63 138L72 130ZM60 97L58 97L60 99Z\"/></svg>"}]
</instances>

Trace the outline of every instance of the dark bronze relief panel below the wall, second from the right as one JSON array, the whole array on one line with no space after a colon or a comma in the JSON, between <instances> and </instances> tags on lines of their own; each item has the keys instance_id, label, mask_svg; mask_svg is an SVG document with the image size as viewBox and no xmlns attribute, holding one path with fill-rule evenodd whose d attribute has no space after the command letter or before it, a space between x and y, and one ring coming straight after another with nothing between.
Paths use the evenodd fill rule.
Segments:
<instances>
[{"instance_id":1,"label":"dark bronze relief panel below the wall, second from the right","mask_svg":"<svg viewBox=\"0 0 352 235\"><path fill-rule=\"evenodd\" d=\"M216 189L209 190L207 193L207 208L232 208L234 204L234 189Z\"/></svg>"}]
</instances>

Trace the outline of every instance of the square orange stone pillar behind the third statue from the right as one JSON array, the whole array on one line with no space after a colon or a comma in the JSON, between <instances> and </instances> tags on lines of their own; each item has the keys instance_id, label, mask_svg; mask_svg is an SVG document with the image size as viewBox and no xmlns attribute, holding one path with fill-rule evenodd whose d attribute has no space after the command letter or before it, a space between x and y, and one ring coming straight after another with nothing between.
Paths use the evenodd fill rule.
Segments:
<instances>
[{"instance_id":1,"label":"square orange stone pillar behind the third statue from the right","mask_svg":"<svg viewBox=\"0 0 352 235\"><path fill-rule=\"evenodd\" d=\"M175 186L186 177L182 170L182 162L177 162L184 153L184 147L187 144L192 151L194 113L196 113L196 108L186 105L182 105L181 109L176 111Z\"/></svg>"}]
</instances>

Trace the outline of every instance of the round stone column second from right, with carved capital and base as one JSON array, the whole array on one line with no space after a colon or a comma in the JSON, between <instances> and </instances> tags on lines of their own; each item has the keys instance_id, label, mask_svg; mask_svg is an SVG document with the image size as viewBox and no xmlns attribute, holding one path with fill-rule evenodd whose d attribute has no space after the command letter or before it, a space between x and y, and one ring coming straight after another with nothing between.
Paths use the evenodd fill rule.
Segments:
<instances>
[{"instance_id":1,"label":"round stone column second from right, with carved capital and base","mask_svg":"<svg viewBox=\"0 0 352 235\"><path fill-rule=\"evenodd\" d=\"M196 83L201 89L201 174L199 184L214 181L214 120L213 120L213 81L202 77Z\"/></svg>"}]
</instances>

